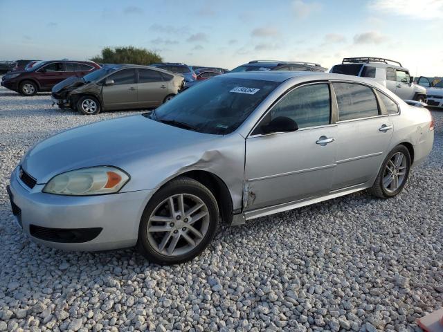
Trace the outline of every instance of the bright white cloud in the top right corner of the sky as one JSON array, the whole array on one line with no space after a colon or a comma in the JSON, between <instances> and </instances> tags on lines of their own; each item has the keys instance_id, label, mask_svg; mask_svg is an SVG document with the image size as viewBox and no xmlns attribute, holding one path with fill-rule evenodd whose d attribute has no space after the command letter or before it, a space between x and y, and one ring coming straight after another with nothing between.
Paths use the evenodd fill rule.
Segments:
<instances>
[{"instance_id":1,"label":"bright white cloud in the top right corner of the sky","mask_svg":"<svg viewBox=\"0 0 443 332\"><path fill-rule=\"evenodd\" d=\"M372 0L369 8L410 19L442 19L442 0Z\"/></svg>"}]
</instances>

